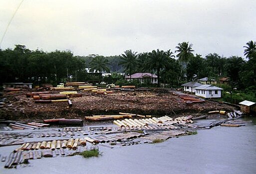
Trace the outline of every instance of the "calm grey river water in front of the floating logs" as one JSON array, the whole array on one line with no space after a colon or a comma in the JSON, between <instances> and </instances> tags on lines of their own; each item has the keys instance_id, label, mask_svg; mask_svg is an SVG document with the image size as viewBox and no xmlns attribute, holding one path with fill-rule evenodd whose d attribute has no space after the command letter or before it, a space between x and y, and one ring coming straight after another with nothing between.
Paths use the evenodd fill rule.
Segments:
<instances>
[{"instance_id":1,"label":"calm grey river water in front of the floating logs","mask_svg":"<svg viewBox=\"0 0 256 174\"><path fill-rule=\"evenodd\" d=\"M256 119L246 126L217 126L159 144L99 147L98 158L42 158L18 169L4 169L0 162L0 174L256 174Z\"/></svg>"}]
</instances>

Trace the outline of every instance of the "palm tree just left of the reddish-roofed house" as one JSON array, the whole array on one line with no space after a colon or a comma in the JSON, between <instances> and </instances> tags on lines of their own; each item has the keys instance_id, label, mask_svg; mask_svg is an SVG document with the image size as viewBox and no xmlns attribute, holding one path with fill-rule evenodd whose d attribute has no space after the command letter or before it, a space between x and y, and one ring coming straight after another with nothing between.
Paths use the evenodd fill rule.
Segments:
<instances>
[{"instance_id":1,"label":"palm tree just left of the reddish-roofed house","mask_svg":"<svg viewBox=\"0 0 256 174\"><path fill-rule=\"evenodd\" d=\"M124 54L122 54L120 65L123 65L126 71L130 74L130 83L132 82L132 72L136 69L137 63L137 52L133 52L132 50L126 50Z\"/></svg>"}]
</instances>

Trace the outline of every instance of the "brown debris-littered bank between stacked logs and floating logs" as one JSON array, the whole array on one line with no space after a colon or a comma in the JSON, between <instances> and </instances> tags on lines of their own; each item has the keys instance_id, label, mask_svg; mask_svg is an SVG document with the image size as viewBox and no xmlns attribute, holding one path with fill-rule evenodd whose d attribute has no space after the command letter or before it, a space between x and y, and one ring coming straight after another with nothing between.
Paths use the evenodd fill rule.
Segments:
<instances>
[{"instance_id":1,"label":"brown debris-littered bank between stacked logs and floating logs","mask_svg":"<svg viewBox=\"0 0 256 174\"><path fill-rule=\"evenodd\" d=\"M165 90L124 92L113 94L95 94L84 92L82 97L71 98L73 106L66 102L34 103L33 98L26 98L26 91L4 93L6 98L0 107L1 119L49 119L49 118L84 118L92 114L117 114L118 112L144 115L181 114L202 115L212 110L233 110L224 103L206 101L186 104L178 94Z\"/></svg>"}]
</instances>

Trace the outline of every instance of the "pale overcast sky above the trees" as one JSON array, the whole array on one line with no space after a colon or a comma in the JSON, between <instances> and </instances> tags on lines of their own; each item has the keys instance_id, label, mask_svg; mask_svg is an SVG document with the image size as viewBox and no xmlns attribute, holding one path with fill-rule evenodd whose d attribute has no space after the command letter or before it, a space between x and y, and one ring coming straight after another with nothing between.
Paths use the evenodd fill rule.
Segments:
<instances>
[{"instance_id":1,"label":"pale overcast sky above the trees","mask_svg":"<svg viewBox=\"0 0 256 174\"><path fill-rule=\"evenodd\" d=\"M21 0L0 0L0 39ZM256 0L24 0L1 49L71 50L74 55L120 55L127 49L243 56L256 41Z\"/></svg>"}]
</instances>

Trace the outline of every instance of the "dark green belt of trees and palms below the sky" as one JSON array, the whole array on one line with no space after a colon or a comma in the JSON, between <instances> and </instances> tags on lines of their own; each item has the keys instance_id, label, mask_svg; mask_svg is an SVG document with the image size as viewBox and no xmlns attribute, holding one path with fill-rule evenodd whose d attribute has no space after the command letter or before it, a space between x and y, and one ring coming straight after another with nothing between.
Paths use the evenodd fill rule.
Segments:
<instances>
[{"instance_id":1,"label":"dark green belt of trees and palms below the sky","mask_svg":"<svg viewBox=\"0 0 256 174\"><path fill-rule=\"evenodd\" d=\"M179 86L188 81L208 77L229 77L232 87L255 88L256 43L246 43L245 56L222 57L210 53L203 57L193 52L193 45L182 42L175 50L153 50L137 53L126 50L118 56L74 56L71 51L44 52L29 50L24 45L0 50L0 83L31 82L56 85L64 81L102 81L101 72L133 73L149 72L158 76L160 83ZM176 53L176 56L175 56ZM88 73L95 72L94 74ZM161 77L161 78L160 78Z\"/></svg>"}]
</instances>

